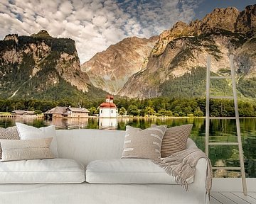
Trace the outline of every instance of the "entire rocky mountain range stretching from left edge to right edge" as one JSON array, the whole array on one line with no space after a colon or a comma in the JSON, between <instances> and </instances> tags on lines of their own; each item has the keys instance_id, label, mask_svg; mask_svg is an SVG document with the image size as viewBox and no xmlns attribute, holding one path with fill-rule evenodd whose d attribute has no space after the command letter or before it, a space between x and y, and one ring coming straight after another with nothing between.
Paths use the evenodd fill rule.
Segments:
<instances>
[{"instance_id":1,"label":"entire rocky mountain range stretching from left edge to right edge","mask_svg":"<svg viewBox=\"0 0 256 204\"><path fill-rule=\"evenodd\" d=\"M46 30L6 35L0 40L0 98L204 97L207 55L217 75L227 74L234 55L239 96L256 98L256 4L244 11L215 8L201 21L178 21L149 39L125 38L82 65L72 39ZM225 89L217 84L215 91Z\"/></svg>"}]
</instances>

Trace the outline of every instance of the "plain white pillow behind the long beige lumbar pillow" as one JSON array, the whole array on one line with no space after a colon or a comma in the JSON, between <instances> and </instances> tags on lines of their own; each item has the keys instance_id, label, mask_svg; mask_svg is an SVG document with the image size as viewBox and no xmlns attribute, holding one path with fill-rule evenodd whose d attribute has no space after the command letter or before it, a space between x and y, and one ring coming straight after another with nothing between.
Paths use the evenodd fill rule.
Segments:
<instances>
[{"instance_id":1,"label":"plain white pillow behind the long beige lumbar pillow","mask_svg":"<svg viewBox=\"0 0 256 204\"><path fill-rule=\"evenodd\" d=\"M55 126L50 125L44 128L35 128L33 126L25 125L23 123L16 123L18 135L21 140L34 140L47 137L53 137L53 141L50 144L50 151L53 152L55 158L58 157L57 139L55 133Z\"/></svg>"}]
</instances>

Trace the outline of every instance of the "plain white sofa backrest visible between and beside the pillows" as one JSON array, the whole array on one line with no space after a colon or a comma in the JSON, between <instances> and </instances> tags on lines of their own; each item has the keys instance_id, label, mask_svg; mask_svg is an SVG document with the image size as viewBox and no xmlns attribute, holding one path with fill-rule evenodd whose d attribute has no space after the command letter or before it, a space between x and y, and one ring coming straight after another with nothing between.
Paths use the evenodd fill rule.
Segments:
<instances>
[{"instance_id":1,"label":"plain white sofa backrest visible between and beside the pillows","mask_svg":"<svg viewBox=\"0 0 256 204\"><path fill-rule=\"evenodd\" d=\"M124 146L123 130L56 130L58 155L85 166L97 159L119 159ZM188 139L187 148L196 147Z\"/></svg>"}]
</instances>

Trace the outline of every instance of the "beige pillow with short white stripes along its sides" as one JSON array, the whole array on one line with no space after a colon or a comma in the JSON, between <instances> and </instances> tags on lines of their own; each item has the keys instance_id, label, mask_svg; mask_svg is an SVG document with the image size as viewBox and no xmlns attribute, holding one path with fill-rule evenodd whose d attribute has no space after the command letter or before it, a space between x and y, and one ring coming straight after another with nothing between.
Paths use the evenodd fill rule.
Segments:
<instances>
[{"instance_id":1,"label":"beige pillow with short white stripes along its sides","mask_svg":"<svg viewBox=\"0 0 256 204\"><path fill-rule=\"evenodd\" d=\"M142 130L126 127L122 158L159 159L166 125Z\"/></svg>"}]
</instances>

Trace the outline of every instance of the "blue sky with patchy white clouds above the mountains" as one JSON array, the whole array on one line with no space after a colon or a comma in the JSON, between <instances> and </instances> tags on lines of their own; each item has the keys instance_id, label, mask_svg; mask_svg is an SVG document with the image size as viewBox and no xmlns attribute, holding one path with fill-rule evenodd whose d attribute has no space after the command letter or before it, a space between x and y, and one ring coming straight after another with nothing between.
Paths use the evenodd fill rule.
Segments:
<instances>
[{"instance_id":1,"label":"blue sky with patchy white clouds above the mountains","mask_svg":"<svg viewBox=\"0 0 256 204\"><path fill-rule=\"evenodd\" d=\"M82 64L124 38L150 38L214 8L242 11L251 4L255 0L0 0L0 40L45 29L75 40Z\"/></svg>"}]
</instances>

